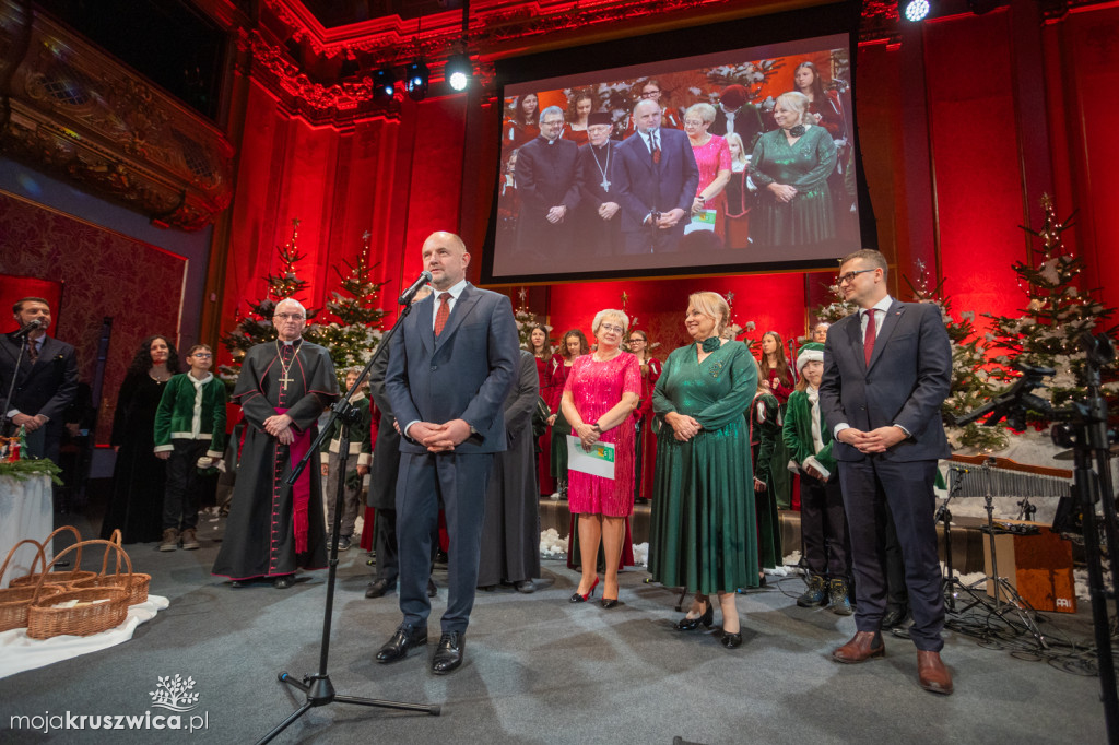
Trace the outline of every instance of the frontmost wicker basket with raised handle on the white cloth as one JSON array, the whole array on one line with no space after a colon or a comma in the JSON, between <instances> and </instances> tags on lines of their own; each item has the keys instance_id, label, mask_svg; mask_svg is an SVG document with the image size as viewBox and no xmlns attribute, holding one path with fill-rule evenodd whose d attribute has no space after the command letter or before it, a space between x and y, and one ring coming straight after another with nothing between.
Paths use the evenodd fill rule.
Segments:
<instances>
[{"instance_id":1,"label":"frontmost wicker basket with raised handle on the white cloth","mask_svg":"<svg viewBox=\"0 0 1119 745\"><path fill-rule=\"evenodd\" d=\"M132 562L129 559L129 555L120 546L107 540L85 540L74 544L56 556L47 569L49 570L55 562L70 551L77 549L81 553L83 546L107 546L115 549L124 558L124 564L129 568L128 582L131 584ZM120 587L67 588L58 594L44 595L43 587L46 577L46 574L39 575L35 597L27 611L27 635L31 639L50 639L63 634L88 636L119 626L128 617L131 595L126 590ZM67 601L77 601L78 604L73 607L56 607L59 603Z\"/></svg>"}]
</instances>

